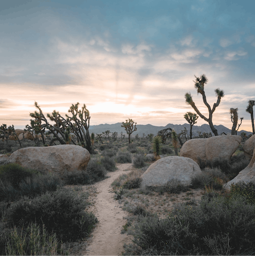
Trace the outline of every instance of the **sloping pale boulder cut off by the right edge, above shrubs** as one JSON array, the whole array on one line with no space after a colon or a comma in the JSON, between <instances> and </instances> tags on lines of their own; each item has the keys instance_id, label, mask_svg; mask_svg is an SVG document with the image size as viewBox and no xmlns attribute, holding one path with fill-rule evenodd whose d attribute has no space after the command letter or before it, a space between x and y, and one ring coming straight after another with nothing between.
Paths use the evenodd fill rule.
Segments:
<instances>
[{"instance_id":1,"label":"sloping pale boulder cut off by the right edge, above shrubs","mask_svg":"<svg viewBox=\"0 0 255 256\"><path fill-rule=\"evenodd\" d=\"M231 184L235 184L240 181L243 181L244 183L249 183L250 181L255 182L255 148L253 150L252 159L248 166L240 171L235 178L228 181L228 183L224 185L224 188L229 191Z\"/></svg>"}]
</instances>

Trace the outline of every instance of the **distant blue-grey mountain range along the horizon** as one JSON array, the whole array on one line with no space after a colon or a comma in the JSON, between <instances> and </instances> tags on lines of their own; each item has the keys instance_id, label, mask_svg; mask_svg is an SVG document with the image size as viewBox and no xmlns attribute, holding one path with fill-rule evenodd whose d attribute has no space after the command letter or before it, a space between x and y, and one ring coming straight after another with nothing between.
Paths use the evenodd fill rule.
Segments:
<instances>
[{"instance_id":1,"label":"distant blue-grey mountain range along the horizon","mask_svg":"<svg viewBox=\"0 0 255 256\"><path fill-rule=\"evenodd\" d=\"M90 126L89 131L90 134L94 133L96 134L101 134L103 131L109 130L111 133L114 133L116 131L118 133L118 136L120 136L121 132L123 134L126 134L126 131L123 127L121 127L122 122L117 122L114 123L113 125L108 125L105 123L104 125L95 125L95 126ZM176 131L177 134L181 133L182 130L184 130L184 127L188 130L188 134L190 133L190 125L189 123L185 123L184 125L173 125L172 123L168 123L166 126L153 126L153 125L137 125L137 131L134 131L132 133L132 137L135 135L139 135L142 137L143 134L148 135L148 134L154 134L157 135L159 130L163 130L166 128L172 128ZM231 130L228 129L227 127L223 125L215 125L214 126L218 130L218 134L225 133L227 135L231 134ZM211 133L213 136L213 132L211 131L211 128L209 125L201 125L201 126L193 126L192 128L192 134L193 136L198 136L198 131L201 131L202 133ZM240 135L244 130L237 131L237 135ZM244 131L247 135L252 134L250 131Z\"/></svg>"}]
</instances>

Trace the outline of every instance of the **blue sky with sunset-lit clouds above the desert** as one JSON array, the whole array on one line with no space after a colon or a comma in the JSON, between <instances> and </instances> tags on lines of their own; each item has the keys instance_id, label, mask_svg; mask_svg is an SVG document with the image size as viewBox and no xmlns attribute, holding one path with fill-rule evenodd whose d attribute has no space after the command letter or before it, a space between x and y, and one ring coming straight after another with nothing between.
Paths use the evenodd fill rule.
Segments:
<instances>
[{"instance_id":1,"label":"blue sky with sunset-lit clouds above the desert","mask_svg":"<svg viewBox=\"0 0 255 256\"><path fill-rule=\"evenodd\" d=\"M43 113L86 104L90 125L187 123L190 92L205 74L205 93L225 96L214 125L231 129L255 100L255 2L236 0L9 0L0 6L0 125L24 128L37 102ZM255 111L255 110L254 110ZM196 125L207 123L199 118Z\"/></svg>"}]
</instances>

